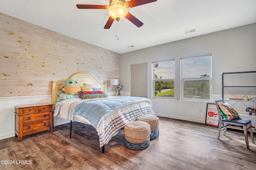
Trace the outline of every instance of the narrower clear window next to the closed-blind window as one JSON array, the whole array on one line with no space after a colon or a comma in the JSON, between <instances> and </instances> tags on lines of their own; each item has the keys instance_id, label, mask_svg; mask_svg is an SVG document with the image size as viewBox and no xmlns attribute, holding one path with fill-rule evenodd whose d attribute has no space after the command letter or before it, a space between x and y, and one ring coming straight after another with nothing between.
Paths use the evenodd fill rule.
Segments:
<instances>
[{"instance_id":1,"label":"narrower clear window next to the closed-blind window","mask_svg":"<svg viewBox=\"0 0 256 170\"><path fill-rule=\"evenodd\" d=\"M174 59L152 62L153 97L174 98Z\"/></svg>"}]
</instances>

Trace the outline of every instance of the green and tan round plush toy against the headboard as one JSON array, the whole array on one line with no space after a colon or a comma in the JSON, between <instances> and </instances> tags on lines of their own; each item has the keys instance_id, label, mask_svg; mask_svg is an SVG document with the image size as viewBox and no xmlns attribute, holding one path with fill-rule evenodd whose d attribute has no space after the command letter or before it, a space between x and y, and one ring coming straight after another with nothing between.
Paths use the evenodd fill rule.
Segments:
<instances>
[{"instance_id":1,"label":"green and tan round plush toy against the headboard","mask_svg":"<svg viewBox=\"0 0 256 170\"><path fill-rule=\"evenodd\" d=\"M80 84L76 82L74 79L68 79L64 81L62 84L60 84L60 88L62 91L66 94L77 94L77 92L81 91Z\"/></svg>"}]
</instances>

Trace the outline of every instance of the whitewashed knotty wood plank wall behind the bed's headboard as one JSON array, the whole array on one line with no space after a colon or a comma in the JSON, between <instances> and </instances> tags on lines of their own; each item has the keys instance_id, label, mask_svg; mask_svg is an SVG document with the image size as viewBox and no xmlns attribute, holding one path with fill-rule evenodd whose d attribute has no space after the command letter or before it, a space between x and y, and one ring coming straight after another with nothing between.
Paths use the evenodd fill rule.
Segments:
<instances>
[{"instance_id":1,"label":"whitewashed knotty wood plank wall behind the bed's headboard","mask_svg":"<svg viewBox=\"0 0 256 170\"><path fill-rule=\"evenodd\" d=\"M120 78L120 54L0 13L0 97L51 94L77 72Z\"/></svg>"}]
</instances>

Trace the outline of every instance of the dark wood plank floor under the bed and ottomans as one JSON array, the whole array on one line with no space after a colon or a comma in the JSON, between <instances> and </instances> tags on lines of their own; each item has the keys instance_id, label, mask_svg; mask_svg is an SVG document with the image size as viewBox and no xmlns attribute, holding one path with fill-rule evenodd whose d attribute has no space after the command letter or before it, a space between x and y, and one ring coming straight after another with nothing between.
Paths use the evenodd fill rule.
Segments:
<instances>
[{"instance_id":1,"label":"dark wood plank floor under the bed and ottomans","mask_svg":"<svg viewBox=\"0 0 256 170\"><path fill-rule=\"evenodd\" d=\"M0 140L0 170L255 170L256 145L248 134L246 149L242 131L228 129L217 139L218 128L170 118L160 118L160 135L144 150L123 145L123 130L101 153L98 135L90 125L73 122L40 132ZM254 134L256 141L256 135ZM5 162L6 163L6 162Z\"/></svg>"}]
</instances>

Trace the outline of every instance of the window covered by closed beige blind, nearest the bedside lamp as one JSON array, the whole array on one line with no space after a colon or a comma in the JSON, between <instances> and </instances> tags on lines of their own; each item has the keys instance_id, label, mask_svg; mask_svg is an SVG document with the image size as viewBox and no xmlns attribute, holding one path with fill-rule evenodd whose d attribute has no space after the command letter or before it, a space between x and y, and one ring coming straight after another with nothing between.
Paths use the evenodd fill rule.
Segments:
<instances>
[{"instance_id":1,"label":"window covered by closed beige blind, nearest the bedside lamp","mask_svg":"<svg viewBox=\"0 0 256 170\"><path fill-rule=\"evenodd\" d=\"M148 63L132 64L131 96L148 97Z\"/></svg>"}]
</instances>

